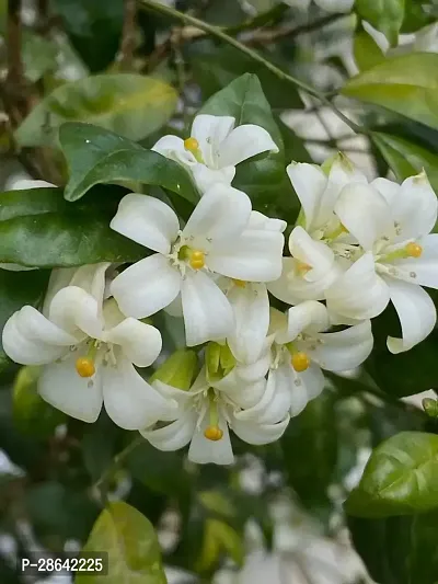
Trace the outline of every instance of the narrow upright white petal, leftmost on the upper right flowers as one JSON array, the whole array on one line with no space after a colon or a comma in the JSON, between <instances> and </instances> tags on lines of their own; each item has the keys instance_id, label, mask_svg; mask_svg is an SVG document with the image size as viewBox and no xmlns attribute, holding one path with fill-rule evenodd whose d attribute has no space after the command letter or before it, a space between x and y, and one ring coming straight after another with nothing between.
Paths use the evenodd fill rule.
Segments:
<instances>
[{"instance_id":1,"label":"narrow upright white petal, leftmost on the upper right flowers","mask_svg":"<svg viewBox=\"0 0 438 584\"><path fill-rule=\"evenodd\" d=\"M309 229L326 187L327 176L320 167L307 162L292 162L286 168L286 172L300 199L304 211L306 227Z\"/></svg>"}]
</instances>

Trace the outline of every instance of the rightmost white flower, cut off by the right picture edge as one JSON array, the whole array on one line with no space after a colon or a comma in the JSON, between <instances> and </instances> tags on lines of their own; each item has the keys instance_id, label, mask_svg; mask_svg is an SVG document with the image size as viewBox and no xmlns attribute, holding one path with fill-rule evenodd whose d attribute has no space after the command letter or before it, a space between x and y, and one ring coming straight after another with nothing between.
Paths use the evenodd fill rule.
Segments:
<instances>
[{"instance_id":1,"label":"rightmost white flower, cut off by the right picture edge","mask_svg":"<svg viewBox=\"0 0 438 584\"><path fill-rule=\"evenodd\" d=\"M377 179L344 188L335 206L365 251L326 291L327 308L349 319L378 316L391 300L402 339L388 337L392 353L407 351L434 329L434 302L420 286L438 288L437 197L424 173L402 185Z\"/></svg>"}]
</instances>

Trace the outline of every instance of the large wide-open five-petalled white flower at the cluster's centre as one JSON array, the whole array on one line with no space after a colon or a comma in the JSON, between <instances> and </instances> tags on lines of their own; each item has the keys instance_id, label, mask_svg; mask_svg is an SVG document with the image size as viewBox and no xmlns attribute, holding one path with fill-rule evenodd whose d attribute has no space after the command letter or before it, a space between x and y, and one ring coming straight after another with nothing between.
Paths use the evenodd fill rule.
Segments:
<instances>
[{"instance_id":1,"label":"large wide-open five-petalled white flower at the cluster's centre","mask_svg":"<svg viewBox=\"0 0 438 584\"><path fill-rule=\"evenodd\" d=\"M126 195L111 227L158 253L117 276L112 294L125 314L143 318L181 293L187 345L222 340L233 330L233 311L211 276L278 278L284 236L270 221L277 225L267 218L255 221L250 198L221 184L204 195L182 231L175 213L161 201Z\"/></svg>"}]
</instances>

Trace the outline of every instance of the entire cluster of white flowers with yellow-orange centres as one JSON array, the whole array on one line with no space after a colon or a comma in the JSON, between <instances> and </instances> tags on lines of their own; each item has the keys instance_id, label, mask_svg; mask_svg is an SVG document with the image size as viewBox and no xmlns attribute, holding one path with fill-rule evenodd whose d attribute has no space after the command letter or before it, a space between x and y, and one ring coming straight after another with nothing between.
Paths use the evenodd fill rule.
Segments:
<instances>
[{"instance_id":1,"label":"entire cluster of white flowers with yellow-orange centres","mask_svg":"<svg viewBox=\"0 0 438 584\"><path fill-rule=\"evenodd\" d=\"M42 366L46 401L85 422L104 404L161 450L189 444L199 463L233 461L230 430L250 444L278 439L323 390L323 370L364 363L370 319L390 301L402 328L388 339L393 353L436 322L422 288L438 287L437 199L424 173L369 183L342 154L321 168L291 163L301 213L284 256L287 222L231 186L237 164L278 148L265 129L234 124L199 115L186 140L153 148L200 192L185 225L162 201L126 195L111 227L145 259L55 270L42 312L25 306L3 330L12 359ZM147 381L141 368L162 348L149 317L162 309L184 319L186 347Z\"/></svg>"}]
</instances>

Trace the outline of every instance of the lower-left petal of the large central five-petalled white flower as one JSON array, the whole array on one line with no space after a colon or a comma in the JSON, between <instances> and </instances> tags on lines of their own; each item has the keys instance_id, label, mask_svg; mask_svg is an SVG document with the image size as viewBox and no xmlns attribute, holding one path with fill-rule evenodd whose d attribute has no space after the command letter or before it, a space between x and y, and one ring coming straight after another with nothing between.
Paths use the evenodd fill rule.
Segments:
<instances>
[{"instance_id":1,"label":"lower-left petal of the large central five-petalled white flower","mask_svg":"<svg viewBox=\"0 0 438 584\"><path fill-rule=\"evenodd\" d=\"M111 291L124 314L142 319L169 306L181 289L181 274L155 253L122 272Z\"/></svg>"}]
</instances>

